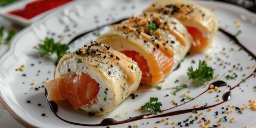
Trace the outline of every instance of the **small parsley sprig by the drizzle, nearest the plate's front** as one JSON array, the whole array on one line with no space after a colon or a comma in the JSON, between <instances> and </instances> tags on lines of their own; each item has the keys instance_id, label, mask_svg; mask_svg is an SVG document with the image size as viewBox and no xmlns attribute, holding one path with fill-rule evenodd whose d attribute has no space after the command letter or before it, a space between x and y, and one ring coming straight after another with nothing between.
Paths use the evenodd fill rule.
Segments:
<instances>
[{"instance_id":1,"label":"small parsley sprig by the drizzle, nearest the plate's front","mask_svg":"<svg viewBox=\"0 0 256 128\"><path fill-rule=\"evenodd\" d=\"M163 111L160 109L160 107L163 105L161 102L157 102L157 100L158 98L150 97L149 102L146 102L145 105L141 106L142 110L149 110L154 115L157 115L157 113L162 113Z\"/></svg>"}]
</instances>

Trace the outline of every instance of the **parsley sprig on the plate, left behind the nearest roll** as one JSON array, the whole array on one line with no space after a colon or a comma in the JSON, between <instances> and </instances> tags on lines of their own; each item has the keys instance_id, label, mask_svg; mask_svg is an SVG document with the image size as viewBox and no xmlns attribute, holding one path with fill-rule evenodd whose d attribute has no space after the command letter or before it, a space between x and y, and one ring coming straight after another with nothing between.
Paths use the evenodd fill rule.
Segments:
<instances>
[{"instance_id":1,"label":"parsley sprig on the plate, left behind the nearest roll","mask_svg":"<svg viewBox=\"0 0 256 128\"><path fill-rule=\"evenodd\" d=\"M51 57L51 55L56 53L58 56L57 63L65 54L67 54L66 51L69 49L68 45L61 44L60 42L55 43L52 38L45 38L44 43L39 44L38 46L39 47L36 49L43 57Z\"/></svg>"}]
</instances>

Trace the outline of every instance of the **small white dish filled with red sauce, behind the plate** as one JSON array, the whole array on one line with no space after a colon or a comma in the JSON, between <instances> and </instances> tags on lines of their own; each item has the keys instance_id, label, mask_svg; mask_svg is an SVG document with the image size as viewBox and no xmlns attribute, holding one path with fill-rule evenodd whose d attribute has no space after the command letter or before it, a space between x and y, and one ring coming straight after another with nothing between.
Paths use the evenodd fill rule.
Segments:
<instances>
[{"instance_id":1,"label":"small white dish filled with red sauce, behind the plate","mask_svg":"<svg viewBox=\"0 0 256 128\"><path fill-rule=\"evenodd\" d=\"M23 0L2 7L0 14L21 26L28 26L71 2L74 0Z\"/></svg>"}]
</instances>

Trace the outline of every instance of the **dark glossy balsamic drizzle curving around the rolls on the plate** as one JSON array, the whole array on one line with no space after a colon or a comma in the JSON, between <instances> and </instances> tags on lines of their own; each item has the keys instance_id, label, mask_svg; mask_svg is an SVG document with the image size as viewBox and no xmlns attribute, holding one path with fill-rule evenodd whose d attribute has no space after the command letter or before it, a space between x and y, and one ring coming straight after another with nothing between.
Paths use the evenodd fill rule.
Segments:
<instances>
[{"instance_id":1,"label":"dark glossy balsamic drizzle curving around the rolls on the plate","mask_svg":"<svg viewBox=\"0 0 256 128\"><path fill-rule=\"evenodd\" d=\"M123 20L126 20L126 19L123 19ZM113 24L122 22L123 20L120 20L120 21L111 23L110 25L113 25ZM102 26L102 27L105 27L105 26L107 26L107 25L104 25L104 26ZM102 27L100 27L100 28L102 28ZM75 38L73 38L73 39L68 43L68 45L71 44L71 43L73 43L76 39L78 39L78 38L80 38L80 37L82 37L82 36L84 36L84 35L86 35L86 34L88 34L88 33L91 33L91 32L94 31L94 30L98 30L98 29L99 29L99 28L93 29L93 30L89 30L89 31L86 31L86 32L83 33L83 34L80 34L80 35L76 36ZM240 46L241 49L243 49L245 52L247 52L249 55L251 55L251 57L252 57L254 60L256 60L256 56L255 56L253 53L251 53L249 50L247 50L247 49L238 41L238 39L236 38L236 36L229 34L227 31L225 31L225 30L223 30L223 29L221 29L221 28L219 28L219 31L220 31L222 34L224 34L224 35L226 35L227 37L229 37L232 41L235 42L235 44L237 44L238 46ZM179 66L177 66L177 68L179 68ZM254 72L256 72L256 68L254 69ZM253 75L253 74L249 75L248 77L246 77L246 79L250 78L252 75ZM241 84L241 83L242 83L242 81L239 82L239 83L238 83L237 85L235 85L234 87L230 87L230 86L229 86L229 91L228 91L228 92L225 92L225 93L222 95L222 100L223 100L223 101L222 101L222 102L219 102L219 103L217 103L217 104L215 104L215 105L212 105L212 106L206 106L206 107L199 107L199 108L192 108L192 109L184 109L184 110L171 111L171 112L167 112L167 113L165 113L165 114L159 114L159 115L144 114L144 115L139 115L139 116L131 117L131 118L126 119L126 120L124 120L124 121L116 121L116 120L113 119L113 118L105 118L105 119L103 119L102 122L99 123L99 124L81 124L81 123L75 123L75 122L67 121L66 119L63 119L63 118L61 118L61 117L58 116L58 114L57 114L57 112L58 112L58 105L57 105L57 103L55 103L54 101L50 101L50 100L49 100L49 97L48 97L48 94L47 94L47 90L46 90L46 89L45 89L45 98L46 98L47 102L49 103L49 105L50 105L50 107L51 107L51 110L52 110L52 112L54 113L54 115L57 116L59 119L61 119L63 122L66 122L66 123L69 123L69 124L74 124L74 125L81 125L81 126L108 126L108 125L117 125L117 124L129 123L129 122L138 121L138 120L146 119L146 118L157 118L157 117L166 117L166 116L174 116L174 115L186 114L186 113L191 113L192 111L195 111L195 110L196 110L196 111L199 111L199 110L208 109L208 108L210 108L210 107L212 108L212 107L215 107L215 106L218 106L218 105L222 104L223 102L228 101L228 100L231 98L231 90L233 90L235 87L237 87L237 86L238 86L239 84ZM211 84L213 84L214 86L217 86L217 87L227 86L227 83L224 82L224 81L215 81L215 82L213 82L213 83L211 83ZM210 84L210 85L211 85L211 84ZM197 97L195 97L194 99L200 97L202 94L204 94L205 92L207 92L208 90L210 90L210 85L209 85L209 87L208 87L207 90L205 90L205 91L202 92L201 94L197 95ZM192 101L192 100L194 100L194 99L191 99L191 100L189 100L189 101L187 101L187 102L190 102L190 101ZM187 102L186 102L186 103L187 103ZM165 109L165 110L163 110L163 111L167 111L167 110L173 109L173 108L175 108L175 107L179 107L179 106L184 105L184 104L185 104L185 103L182 103L182 104L180 104L180 105L178 105L178 106L174 106L174 107L172 107L172 108L168 108L168 109ZM152 115L153 115L153 116L152 116Z\"/></svg>"}]
</instances>

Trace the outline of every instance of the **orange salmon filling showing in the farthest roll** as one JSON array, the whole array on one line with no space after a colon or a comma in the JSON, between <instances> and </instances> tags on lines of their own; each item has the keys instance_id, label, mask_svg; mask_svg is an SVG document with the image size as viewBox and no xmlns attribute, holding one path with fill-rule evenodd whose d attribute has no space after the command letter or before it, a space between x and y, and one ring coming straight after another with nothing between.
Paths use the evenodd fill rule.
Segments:
<instances>
[{"instance_id":1,"label":"orange salmon filling showing in the farthest roll","mask_svg":"<svg viewBox=\"0 0 256 128\"><path fill-rule=\"evenodd\" d=\"M203 50L207 45L207 38L203 37L201 31L194 27L186 27L188 33L193 37L193 43L191 45L191 49L193 50Z\"/></svg>"}]
</instances>

